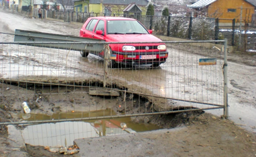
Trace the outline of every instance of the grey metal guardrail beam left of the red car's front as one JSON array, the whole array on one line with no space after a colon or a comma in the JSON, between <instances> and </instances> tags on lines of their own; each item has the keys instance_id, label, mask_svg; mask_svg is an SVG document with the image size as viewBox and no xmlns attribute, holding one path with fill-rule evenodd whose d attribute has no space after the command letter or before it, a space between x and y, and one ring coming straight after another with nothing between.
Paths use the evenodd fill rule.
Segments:
<instances>
[{"instance_id":1,"label":"grey metal guardrail beam left of the red car's front","mask_svg":"<svg viewBox=\"0 0 256 157\"><path fill-rule=\"evenodd\" d=\"M14 43L20 45L86 51L90 53L99 53L104 49L104 40L26 30L15 30L14 35ZM83 42L84 44L78 44L77 42ZM97 44L90 44L86 42L97 42Z\"/></svg>"}]
</instances>

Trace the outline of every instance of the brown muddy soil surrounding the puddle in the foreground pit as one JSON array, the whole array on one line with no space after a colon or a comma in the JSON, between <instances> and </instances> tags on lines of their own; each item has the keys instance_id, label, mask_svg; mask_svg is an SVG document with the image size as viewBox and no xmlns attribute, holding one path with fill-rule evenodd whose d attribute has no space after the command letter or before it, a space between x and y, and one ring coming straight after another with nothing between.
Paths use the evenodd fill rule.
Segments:
<instances>
[{"instance_id":1,"label":"brown muddy soil surrounding the puddle in the foreground pit","mask_svg":"<svg viewBox=\"0 0 256 157\"><path fill-rule=\"evenodd\" d=\"M145 112L146 107L151 111L152 103L146 97L129 95L127 93L124 103L124 93L119 97L103 98L90 96L88 93L76 93L76 89L60 88L60 93L44 95L41 87L18 87L1 83L1 93L10 97L1 97L0 120L1 122L20 121L17 117L22 108L20 104L26 100L31 106L32 112L53 114L60 111L111 108L115 114ZM19 90L18 90L19 89ZM58 88L59 89L59 88ZM38 91L37 91L38 90ZM78 89L79 91L81 89ZM86 91L86 89L83 89ZM14 92L19 92L19 94ZM35 92L36 91L36 92ZM45 87L45 92L47 88ZM49 90L50 91L50 90ZM52 92L54 87L52 88ZM35 93L34 93L35 92ZM73 92L73 93L72 93ZM60 96L61 95L61 96ZM37 103L35 100L41 97ZM139 101L140 99L140 101ZM60 101L61 100L61 101ZM103 101L105 100L105 103ZM106 101L108 100L108 101ZM104 105L102 105L104 104ZM127 105L127 110L119 105ZM139 108L140 105L140 108ZM156 106L156 105L154 105ZM161 105L160 105L161 106ZM154 109L154 108L153 108ZM168 115L151 115L132 117L133 122L153 123L160 128L180 128L158 130L153 132L125 134L111 137L88 138L86 142L75 140L81 151L74 156L253 156L256 153L256 136L247 132L229 120L223 120L216 116L202 112L186 112ZM22 126L16 126L24 129ZM52 157L63 156L59 153L51 153L44 150L44 146L18 145L13 148L15 141L8 137L6 126L0 128L2 139L0 152L2 156L34 156ZM10 133L9 133L10 134ZM81 145L81 142L83 143Z\"/></svg>"}]
</instances>

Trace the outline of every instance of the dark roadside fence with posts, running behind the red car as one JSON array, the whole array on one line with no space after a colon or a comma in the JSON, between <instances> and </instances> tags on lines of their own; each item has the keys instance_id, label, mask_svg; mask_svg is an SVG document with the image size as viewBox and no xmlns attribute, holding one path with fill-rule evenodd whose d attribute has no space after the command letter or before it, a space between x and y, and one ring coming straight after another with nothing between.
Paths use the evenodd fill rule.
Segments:
<instances>
[{"instance_id":1,"label":"dark roadside fence with posts, running behind the red car","mask_svg":"<svg viewBox=\"0 0 256 157\"><path fill-rule=\"evenodd\" d=\"M34 10L34 16L38 16L37 9ZM238 40L237 22L235 19L219 19L207 17L181 17L181 16L148 16L137 14L116 14L116 13L87 13L74 11L51 11L44 13L43 17L60 19L64 22L84 23L89 17L112 16L112 17L129 17L137 19L147 29L154 30L154 34L170 36L174 38L182 38L189 40L223 40L227 39L228 45L236 47L244 47L244 41ZM219 26L220 23L230 23L228 31L223 31ZM234 22L235 21L235 22ZM242 38L250 40L255 34L244 35ZM254 49L253 44L246 44L246 49Z\"/></svg>"}]
</instances>

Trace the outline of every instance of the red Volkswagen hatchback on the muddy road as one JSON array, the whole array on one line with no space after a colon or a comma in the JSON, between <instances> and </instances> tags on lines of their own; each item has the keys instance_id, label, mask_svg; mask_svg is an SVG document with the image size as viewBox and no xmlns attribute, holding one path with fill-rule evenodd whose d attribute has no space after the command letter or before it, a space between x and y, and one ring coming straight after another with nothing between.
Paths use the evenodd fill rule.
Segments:
<instances>
[{"instance_id":1,"label":"red Volkswagen hatchback on the muddy road","mask_svg":"<svg viewBox=\"0 0 256 157\"><path fill-rule=\"evenodd\" d=\"M138 42L135 44L109 44L111 49L112 66L121 63L129 66L150 64L157 67L168 57L166 45L151 35L138 20L125 17L90 17L80 30L80 37L101 39L106 42ZM89 52L82 52L87 57ZM104 52L97 54L104 56Z\"/></svg>"}]
</instances>

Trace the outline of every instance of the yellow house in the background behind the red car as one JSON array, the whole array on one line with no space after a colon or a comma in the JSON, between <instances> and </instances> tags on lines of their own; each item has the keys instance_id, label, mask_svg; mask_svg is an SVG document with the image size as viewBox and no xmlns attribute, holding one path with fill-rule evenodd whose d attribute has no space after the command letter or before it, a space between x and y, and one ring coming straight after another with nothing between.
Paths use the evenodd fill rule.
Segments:
<instances>
[{"instance_id":1,"label":"yellow house in the background behind the red car","mask_svg":"<svg viewBox=\"0 0 256 157\"><path fill-rule=\"evenodd\" d=\"M142 11L142 15L146 15L146 6L148 0L75 0L74 11L91 12L100 14L123 14L124 9L129 4L136 4Z\"/></svg>"}]
</instances>

